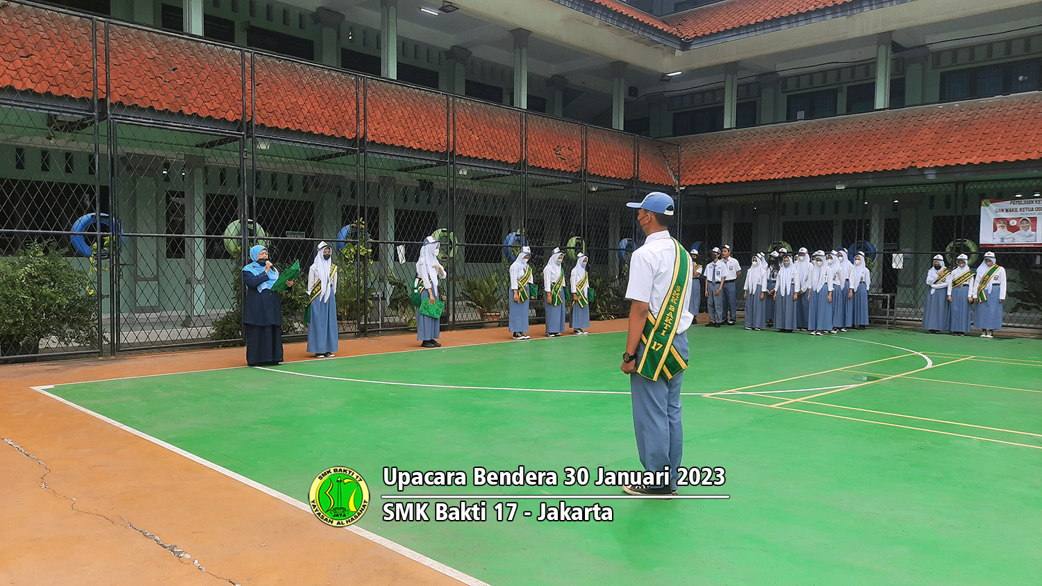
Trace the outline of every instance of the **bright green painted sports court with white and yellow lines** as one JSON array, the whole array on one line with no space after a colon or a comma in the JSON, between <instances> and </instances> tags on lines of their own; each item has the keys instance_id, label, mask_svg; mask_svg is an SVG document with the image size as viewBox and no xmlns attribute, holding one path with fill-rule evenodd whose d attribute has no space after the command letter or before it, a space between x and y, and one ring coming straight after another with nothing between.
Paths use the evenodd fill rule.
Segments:
<instances>
[{"instance_id":1,"label":"bright green painted sports court with white and yellow lines","mask_svg":"<svg viewBox=\"0 0 1042 586\"><path fill-rule=\"evenodd\" d=\"M622 494L592 480L384 485L384 466L469 480L474 466L524 466L561 481L566 466L640 468L619 332L47 392L301 502L323 468L352 467L373 503L358 527L489 584L1037 582L1038 340L703 328L690 340L684 465L726 475L680 495L727 500L584 499ZM384 523L391 494L488 495L489 520ZM523 517L544 495L599 502L614 518ZM496 499L518 503L513 521L492 518Z\"/></svg>"}]
</instances>

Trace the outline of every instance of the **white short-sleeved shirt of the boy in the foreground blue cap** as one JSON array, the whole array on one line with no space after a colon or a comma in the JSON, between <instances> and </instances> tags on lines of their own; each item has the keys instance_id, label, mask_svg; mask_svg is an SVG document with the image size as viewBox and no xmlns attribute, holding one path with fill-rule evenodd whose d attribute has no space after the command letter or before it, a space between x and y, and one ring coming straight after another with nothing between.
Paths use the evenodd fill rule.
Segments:
<instances>
[{"instance_id":1,"label":"white short-sleeved shirt of the boy in the foreground blue cap","mask_svg":"<svg viewBox=\"0 0 1042 586\"><path fill-rule=\"evenodd\" d=\"M676 262L676 245L669 236L668 230L655 232L647 237L644 246L634 252L629 260L629 284L626 287L626 299L643 301L648 304L652 319L659 317L663 302L669 294L669 285L673 282L673 265ZM691 281L691 264L688 264L688 282ZM695 316L688 305L692 289L680 302L680 319L676 332L686 332L691 327Z\"/></svg>"}]
</instances>

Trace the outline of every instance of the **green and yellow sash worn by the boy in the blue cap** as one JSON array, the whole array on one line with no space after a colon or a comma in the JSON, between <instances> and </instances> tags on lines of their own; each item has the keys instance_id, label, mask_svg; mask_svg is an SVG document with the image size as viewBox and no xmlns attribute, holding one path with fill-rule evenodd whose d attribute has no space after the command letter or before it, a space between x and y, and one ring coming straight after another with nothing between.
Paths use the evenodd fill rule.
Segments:
<instances>
[{"instance_id":1,"label":"green and yellow sash worn by the boy in the blue cap","mask_svg":"<svg viewBox=\"0 0 1042 586\"><path fill-rule=\"evenodd\" d=\"M669 292L659 310L659 317L652 319L648 314L641 334L644 354L637 365L637 373L652 381L659 380L660 373L671 379L688 367L688 363L673 347L673 338L684 310L684 299L691 287L691 257L675 238L673 246L676 248L676 260L673 261L673 279Z\"/></svg>"}]
</instances>

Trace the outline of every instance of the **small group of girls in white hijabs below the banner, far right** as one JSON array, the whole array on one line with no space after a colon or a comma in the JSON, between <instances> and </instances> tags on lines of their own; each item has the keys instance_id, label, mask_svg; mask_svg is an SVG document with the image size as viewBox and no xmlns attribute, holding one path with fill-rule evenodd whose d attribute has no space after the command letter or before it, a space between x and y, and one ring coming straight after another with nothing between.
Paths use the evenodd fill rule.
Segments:
<instances>
[{"instance_id":1,"label":"small group of girls in white hijabs below the banner, far right","mask_svg":"<svg viewBox=\"0 0 1042 586\"><path fill-rule=\"evenodd\" d=\"M968 257L960 254L956 266L945 266L944 257L934 257L926 273L926 305L922 327L932 334L950 331L964 336L973 325L981 337L994 337L1002 329L1002 303L1006 301L1006 269L995 261L995 253L987 252L984 262L974 273ZM974 310L975 306L975 310Z\"/></svg>"}]
</instances>

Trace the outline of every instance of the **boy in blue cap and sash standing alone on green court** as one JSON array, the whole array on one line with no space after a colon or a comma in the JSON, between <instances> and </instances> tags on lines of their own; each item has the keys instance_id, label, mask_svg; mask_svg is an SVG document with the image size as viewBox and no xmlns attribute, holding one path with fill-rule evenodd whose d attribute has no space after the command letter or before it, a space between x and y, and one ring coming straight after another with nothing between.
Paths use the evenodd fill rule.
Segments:
<instances>
[{"instance_id":1,"label":"boy in blue cap and sash standing alone on green court","mask_svg":"<svg viewBox=\"0 0 1042 586\"><path fill-rule=\"evenodd\" d=\"M688 328L694 320L689 296L691 256L669 235L673 198L648 194L637 209L637 222L647 235L629 262L629 330L622 355L629 375L637 453L644 469L663 473L659 482L623 487L628 494L676 494L677 469L684 449L680 384L688 366ZM663 474L662 477L667 475Z\"/></svg>"}]
</instances>

